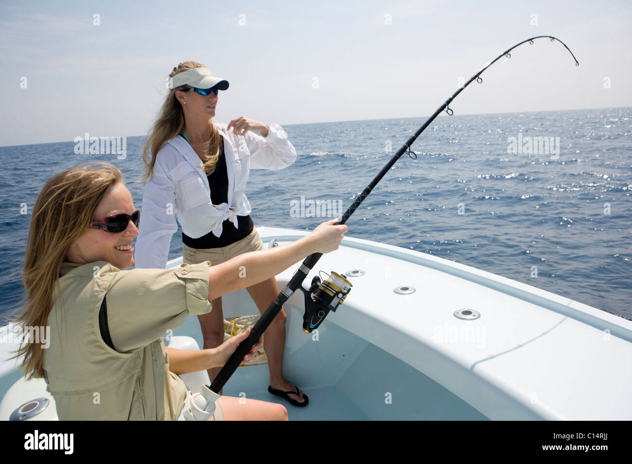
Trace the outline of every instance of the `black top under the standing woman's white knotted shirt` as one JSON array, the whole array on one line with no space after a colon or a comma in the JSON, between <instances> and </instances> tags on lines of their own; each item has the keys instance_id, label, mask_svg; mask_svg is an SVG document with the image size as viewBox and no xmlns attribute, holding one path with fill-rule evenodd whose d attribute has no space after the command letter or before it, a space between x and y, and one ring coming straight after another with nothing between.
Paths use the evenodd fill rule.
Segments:
<instances>
[{"instance_id":1,"label":"black top under the standing woman's white knotted shirt","mask_svg":"<svg viewBox=\"0 0 632 464\"><path fill-rule=\"evenodd\" d=\"M224 143L220 144L219 158L217 159L215 170L207 176L207 179L209 181L211 203L213 203L213 205L228 203L228 170L226 167L226 157L224 156ZM192 239L182 232L182 242L188 247L197 249L229 246L246 237L255 227L250 215L238 216L237 223L239 227L235 229L230 220L225 220L222 223L222 235L219 237L216 237L213 232L209 232L198 239Z\"/></svg>"}]
</instances>

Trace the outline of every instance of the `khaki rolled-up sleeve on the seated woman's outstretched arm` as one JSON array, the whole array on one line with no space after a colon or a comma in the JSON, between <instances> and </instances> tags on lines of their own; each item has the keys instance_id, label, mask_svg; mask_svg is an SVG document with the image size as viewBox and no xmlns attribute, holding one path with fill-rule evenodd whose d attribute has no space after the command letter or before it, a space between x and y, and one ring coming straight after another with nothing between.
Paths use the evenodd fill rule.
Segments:
<instances>
[{"instance_id":1,"label":"khaki rolled-up sleeve on the seated woman's outstretched arm","mask_svg":"<svg viewBox=\"0 0 632 464\"><path fill-rule=\"evenodd\" d=\"M119 271L107 290L107 324L114 348L133 352L205 314L210 261L171 269Z\"/></svg>"}]
</instances>

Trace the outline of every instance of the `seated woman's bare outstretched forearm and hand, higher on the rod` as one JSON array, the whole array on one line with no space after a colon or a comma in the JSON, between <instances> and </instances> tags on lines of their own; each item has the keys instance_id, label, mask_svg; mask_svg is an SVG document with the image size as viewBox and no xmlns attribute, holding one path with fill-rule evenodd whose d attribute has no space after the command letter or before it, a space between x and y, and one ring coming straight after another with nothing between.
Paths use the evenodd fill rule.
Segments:
<instances>
[{"instance_id":1,"label":"seated woman's bare outstretched forearm and hand, higher on the rod","mask_svg":"<svg viewBox=\"0 0 632 464\"><path fill-rule=\"evenodd\" d=\"M245 289L286 270L312 253L329 253L340 245L346 225L336 219L319 225L313 232L283 246L240 254L226 263L209 268L209 301L233 290Z\"/></svg>"}]
</instances>

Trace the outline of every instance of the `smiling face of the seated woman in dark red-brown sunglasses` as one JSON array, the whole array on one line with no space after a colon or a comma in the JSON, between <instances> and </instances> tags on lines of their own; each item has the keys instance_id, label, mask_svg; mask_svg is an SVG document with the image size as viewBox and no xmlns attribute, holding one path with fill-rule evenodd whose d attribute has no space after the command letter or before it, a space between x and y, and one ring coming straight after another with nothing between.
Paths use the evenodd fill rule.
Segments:
<instances>
[{"instance_id":1,"label":"smiling face of the seated woman in dark red-brown sunglasses","mask_svg":"<svg viewBox=\"0 0 632 464\"><path fill-rule=\"evenodd\" d=\"M134 211L130 191L121 182L116 182L107 190L92 219L104 219L120 213L131 215ZM88 229L71 246L66 261L80 264L107 261L116 268L128 268L134 264L131 242L137 236L138 229L131 221L128 222L127 229L116 234L106 230Z\"/></svg>"}]
</instances>

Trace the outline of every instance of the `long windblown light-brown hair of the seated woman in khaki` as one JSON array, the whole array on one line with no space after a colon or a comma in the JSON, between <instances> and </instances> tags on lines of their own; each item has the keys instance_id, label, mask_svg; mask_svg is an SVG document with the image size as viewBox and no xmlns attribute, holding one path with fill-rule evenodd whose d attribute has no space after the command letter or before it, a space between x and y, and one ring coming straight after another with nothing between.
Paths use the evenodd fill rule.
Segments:
<instances>
[{"instance_id":1,"label":"long windblown light-brown hair of the seated woman in khaki","mask_svg":"<svg viewBox=\"0 0 632 464\"><path fill-rule=\"evenodd\" d=\"M17 310L14 323L24 327L48 325L54 290L59 290L61 264L72 244L92 225L100 201L116 182L123 182L116 166L88 162L53 175L44 184L33 206L24 256L23 300L27 302ZM61 298L61 292L58 295ZM11 359L21 355L27 380L44 377L40 343L22 343Z\"/></svg>"}]
</instances>

